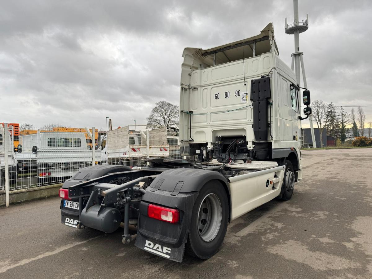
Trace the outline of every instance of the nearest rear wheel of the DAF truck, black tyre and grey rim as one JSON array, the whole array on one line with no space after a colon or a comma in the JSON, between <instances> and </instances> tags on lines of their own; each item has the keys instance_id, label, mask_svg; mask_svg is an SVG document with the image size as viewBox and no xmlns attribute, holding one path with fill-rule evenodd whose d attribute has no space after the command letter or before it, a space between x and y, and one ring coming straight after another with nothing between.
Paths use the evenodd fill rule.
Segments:
<instances>
[{"instance_id":1,"label":"nearest rear wheel of the DAF truck, black tyre and grey rim","mask_svg":"<svg viewBox=\"0 0 372 279\"><path fill-rule=\"evenodd\" d=\"M222 184L217 180L206 183L192 210L186 253L199 259L209 259L217 253L225 238L228 214L228 200Z\"/></svg>"}]
</instances>

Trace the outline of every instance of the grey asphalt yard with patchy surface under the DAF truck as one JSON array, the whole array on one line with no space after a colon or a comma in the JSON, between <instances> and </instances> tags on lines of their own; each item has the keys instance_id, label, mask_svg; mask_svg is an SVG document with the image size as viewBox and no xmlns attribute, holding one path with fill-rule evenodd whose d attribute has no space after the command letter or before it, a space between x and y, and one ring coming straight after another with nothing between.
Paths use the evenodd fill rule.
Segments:
<instances>
[{"instance_id":1,"label":"grey asphalt yard with patchy surface under the DAF truck","mask_svg":"<svg viewBox=\"0 0 372 279\"><path fill-rule=\"evenodd\" d=\"M211 259L171 262L60 222L60 198L0 208L0 278L372 278L372 149L302 151L303 181L233 221Z\"/></svg>"}]
</instances>

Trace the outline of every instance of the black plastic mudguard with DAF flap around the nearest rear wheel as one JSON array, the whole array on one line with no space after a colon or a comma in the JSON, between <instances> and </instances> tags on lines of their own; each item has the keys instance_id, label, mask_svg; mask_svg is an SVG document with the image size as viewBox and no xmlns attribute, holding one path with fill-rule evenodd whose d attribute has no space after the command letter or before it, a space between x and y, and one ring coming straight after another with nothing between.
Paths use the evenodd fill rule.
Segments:
<instances>
[{"instance_id":1,"label":"black plastic mudguard with DAF flap around the nearest rear wheel","mask_svg":"<svg viewBox=\"0 0 372 279\"><path fill-rule=\"evenodd\" d=\"M142 196L135 246L157 256L182 262L194 203L203 185L214 179L227 183L217 171L171 169L159 174ZM150 203L178 209L180 221L171 224L148 217Z\"/></svg>"}]
</instances>

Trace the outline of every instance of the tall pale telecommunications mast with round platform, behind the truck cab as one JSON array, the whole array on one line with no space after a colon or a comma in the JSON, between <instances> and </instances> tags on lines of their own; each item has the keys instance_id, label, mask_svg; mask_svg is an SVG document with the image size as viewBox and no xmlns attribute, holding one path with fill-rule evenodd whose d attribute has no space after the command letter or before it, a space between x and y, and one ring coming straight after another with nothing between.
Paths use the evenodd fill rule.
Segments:
<instances>
[{"instance_id":1,"label":"tall pale telecommunications mast with round platform, behind the truck cab","mask_svg":"<svg viewBox=\"0 0 372 279\"><path fill-rule=\"evenodd\" d=\"M291 68L292 71L295 68L296 79L299 86L301 86L301 76L300 76L300 62L301 62L301 69L302 69L302 79L304 80L304 87L307 88L306 83L306 75L305 75L305 66L304 66L304 59L302 55L304 52L300 51L300 39L299 33L305 32L309 28L309 16L306 15L306 20L302 20L302 22L298 21L298 0L293 0L293 13L294 13L294 23L288 25L287 18L285 18L285 33L290 35L295 35L295 52L292 53L292 64ZM311 128L311 138L312 138L312 146L314 148L317 147L315 142L314 136L314 127L312 126L312 116L309 116L310 128Z\"/></svg>"}]
</instances>

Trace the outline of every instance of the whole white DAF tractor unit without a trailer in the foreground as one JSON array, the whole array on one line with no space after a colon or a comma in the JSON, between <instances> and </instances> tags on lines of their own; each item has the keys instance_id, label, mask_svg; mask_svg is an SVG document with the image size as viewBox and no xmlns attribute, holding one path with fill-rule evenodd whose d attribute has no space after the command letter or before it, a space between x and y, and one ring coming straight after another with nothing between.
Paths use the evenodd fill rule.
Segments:
<instances>
[{"instance_id":1,"label":"whole white DAF tractor unit without a trailer in the foreground","mask_svg":"<svg viewBox=\"0 0 372 279\"><path fill-rule=\"evenodd\" d=\"M241 41L186 48L183 57L181 155L198 160L83 169L60 189L62 224L106 233L122 227L124 244L135 240L176 262L185 253L208 259L229 222L274 198L291 198L302 179L301 97L272 24ZM308 90L302 102L310 104Z\"/></svg>"}]
</instances>

